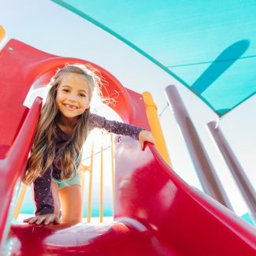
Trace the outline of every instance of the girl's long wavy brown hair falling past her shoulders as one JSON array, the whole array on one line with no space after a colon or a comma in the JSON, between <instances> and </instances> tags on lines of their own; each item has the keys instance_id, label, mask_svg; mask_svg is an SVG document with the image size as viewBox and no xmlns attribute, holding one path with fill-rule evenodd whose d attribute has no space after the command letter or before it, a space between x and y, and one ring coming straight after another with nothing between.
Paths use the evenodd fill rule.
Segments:
<instances>
[{"instance_id":1,"label":"girl's long wavy brown hair falling past her shoulders","mask_svg":"<svg viewBox=\"0 0 256 256\"><path fill-rule=\"evenodd\" d=\"M43 105L39 116L39 122L35 131L35 139L32 143L30 157L28 158L26 173L24 174L24 184L32 184L39 176L43 176L46 169L50 168L55 157L55 140L56 140L56 120L58 118L58 107L56 105L56 95L61 83L61 77L66 73L77 73L85 77L90 84L89 102L93 91L99 90L102 83L101 76L91 65L65 65L64 68L58 69L56 74L51 78L48 86L50 91L47 95L46 102ZM61 148L58 156L58 167L64 179L72 176L76 169L75 161L77 154L83 147L88 134L88 117L90 108L86 109L78 118L76 126L73 129L71 139Z\"/></svg>"}]
</instances>

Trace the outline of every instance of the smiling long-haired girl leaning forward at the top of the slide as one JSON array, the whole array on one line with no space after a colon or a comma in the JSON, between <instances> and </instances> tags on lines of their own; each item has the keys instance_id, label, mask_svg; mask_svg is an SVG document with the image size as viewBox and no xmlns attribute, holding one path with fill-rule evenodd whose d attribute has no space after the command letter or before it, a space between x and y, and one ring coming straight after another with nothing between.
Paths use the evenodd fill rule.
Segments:
<instances>
[{"instance_id":1,"label":"smiling long-haired girl leaning forward at the top of the slide","mask_svg":"<svg viewBox=\"0 0 256 256\"><path fill-rule=\"evenodd\" d=\"M92 128L130 135L141 148L154 143L150 132L130 124L109 121L90 113L99 76L85 65L66 65L50 80L50 91L41 110L24 184L34 184L35 217L29 224L82 221L82 195L77 171L80 151Z\"/></svg>"}]
</instances>

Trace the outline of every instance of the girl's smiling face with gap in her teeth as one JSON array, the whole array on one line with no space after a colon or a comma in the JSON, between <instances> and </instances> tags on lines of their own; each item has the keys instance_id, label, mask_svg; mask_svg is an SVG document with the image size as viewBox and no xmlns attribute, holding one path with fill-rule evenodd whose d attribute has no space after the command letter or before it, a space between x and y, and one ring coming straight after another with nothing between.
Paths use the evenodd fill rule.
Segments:
<instances>
[{"instance_id":1,"label":"girl's smiling face with gap in her teeth","mask_svg":"<svg viewBox=\"0 0 256 256\"><path fill-rule=\"evenodd\" d=\"M90 83L83 75L74 72L64 74L56 95L61 118L76 121L90 107L90 94Z\"/></svg>"}]
</instances>

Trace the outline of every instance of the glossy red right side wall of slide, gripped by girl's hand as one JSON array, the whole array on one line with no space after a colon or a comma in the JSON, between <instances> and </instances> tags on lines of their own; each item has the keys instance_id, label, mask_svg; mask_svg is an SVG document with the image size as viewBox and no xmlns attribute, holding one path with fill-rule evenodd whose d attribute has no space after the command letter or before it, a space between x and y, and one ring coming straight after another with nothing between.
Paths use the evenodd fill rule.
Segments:
<instances>
[{"instance_id":1,"label":"glossy red right side wall of slide, gripped by girl's hand","mask_svg":"<svg viewBox=\"0 0 256 256\"><path fill-rule=\"evenodd\" d=\"M187 185L153 146L141 152L128 138L118 141L115 217L149 224L165 247L181 255L255 254L255 228Z\"/></svg>"}]
</instances>

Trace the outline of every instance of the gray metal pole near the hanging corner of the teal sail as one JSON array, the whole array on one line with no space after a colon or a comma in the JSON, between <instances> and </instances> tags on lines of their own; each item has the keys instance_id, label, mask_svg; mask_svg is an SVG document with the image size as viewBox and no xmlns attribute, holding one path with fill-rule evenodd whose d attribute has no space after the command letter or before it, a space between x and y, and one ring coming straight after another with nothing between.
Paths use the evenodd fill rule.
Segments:
<instances>
[{"instance_id":1,"label":"gray metal pole near the hanging corner of the teal sail","mask_svg":"<svg viewBox=\"0 0 256 256\"><path fill-rule=\"evenodd\" d=\"M236 180L243 198L247 202L249 207L251 217L253 217L256 223L256 193L254 187L250 184L250 180L243 171L243 167L239 164L236 155L234 154L232 148L229 146L227 139L225 139L221 129L217 127L216 122L210 122L206 125L210 134L212 135L213 141L216 143L217 147L221 151L221 154L226 161L228 168L230 169L232 176Z\"/></svg>"}]
</instances>

